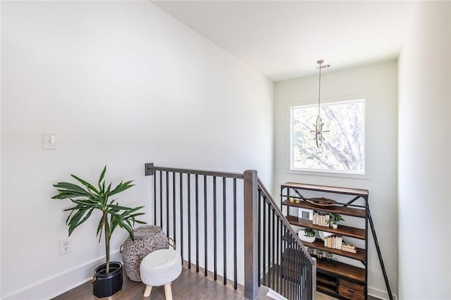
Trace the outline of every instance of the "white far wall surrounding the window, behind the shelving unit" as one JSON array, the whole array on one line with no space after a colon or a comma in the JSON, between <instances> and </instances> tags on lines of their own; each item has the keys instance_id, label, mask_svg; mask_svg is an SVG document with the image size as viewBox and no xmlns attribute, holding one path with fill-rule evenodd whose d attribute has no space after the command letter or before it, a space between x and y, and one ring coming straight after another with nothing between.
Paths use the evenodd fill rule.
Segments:
<instances>
[{"instance_id":1,"label":"white far wall surrounding the window, behind the shelving unit","mask_svg":"<svg viewBox=\"0 0 451 300\"><path fill-rule=\"evenodd\" d=\"M333 62L328 62L333 65ZM283 182L369 189L376 225L392 292L397 292L397 65L395 61L323 73L321 99L366 98L366 168L369 179L297 175L289 168L288 105L317 101L318 75L276 82L274 190ZM369 244L369 293L387 298L372 237Z\"/></svg>"}]
</instances>

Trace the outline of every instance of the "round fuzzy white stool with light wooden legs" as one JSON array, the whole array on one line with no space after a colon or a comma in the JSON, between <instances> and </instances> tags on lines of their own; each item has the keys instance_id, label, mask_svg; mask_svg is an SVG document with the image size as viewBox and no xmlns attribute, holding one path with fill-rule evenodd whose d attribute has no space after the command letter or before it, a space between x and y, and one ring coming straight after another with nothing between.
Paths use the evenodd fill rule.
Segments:
<instances>
[{"instance_id":1,"label":"round fuzzy white stool with light wooden legs","mask_svg":"<svg viewBox=\"0 0 451 300\"><path fill-rule=\"evenodd\" d=\"M172 300L171 283L182 272L182 259L173 249L160 249L147 254L141 261L141 280L146 285L144 297L150 296L152 287L164 285L166 300Z\"/></svg>"}]
</instances>

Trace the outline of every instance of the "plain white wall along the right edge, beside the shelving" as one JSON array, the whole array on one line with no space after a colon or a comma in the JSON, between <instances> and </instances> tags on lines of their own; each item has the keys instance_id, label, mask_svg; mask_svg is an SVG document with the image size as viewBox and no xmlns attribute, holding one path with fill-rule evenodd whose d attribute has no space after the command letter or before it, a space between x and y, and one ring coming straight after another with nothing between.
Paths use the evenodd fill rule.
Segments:
<instances>
[{"instance_id":1,"label":"plain white wall along the right edge, beside the shelving","mask_svg":"<svg viewBox=\"0 0 451 300\"><path fill-rule=\"evenodd\" d=\"M451 294L450 20L449 2L420 1L399 60L401 299Z\"/></svg>"}]
</instances>

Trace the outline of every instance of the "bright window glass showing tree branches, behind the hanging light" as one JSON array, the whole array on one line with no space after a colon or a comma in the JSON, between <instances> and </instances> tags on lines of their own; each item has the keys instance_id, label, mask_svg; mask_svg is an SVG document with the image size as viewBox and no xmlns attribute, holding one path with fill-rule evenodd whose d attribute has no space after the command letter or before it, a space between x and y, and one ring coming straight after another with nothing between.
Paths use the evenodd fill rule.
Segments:
<instances>
[{"instance_id":1,"label":"bright window glass showing tree branches, behind the hanging light","mask_svg":"<svg viewBox=\"0 0 451 300\"><path fill-rule=\"evenodd\" d=\"M290 107L290 169L365 174L365 100L321 105L323 144L315 143L318 105Z\"/></svg>"}]
</instances>

